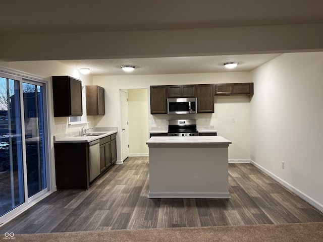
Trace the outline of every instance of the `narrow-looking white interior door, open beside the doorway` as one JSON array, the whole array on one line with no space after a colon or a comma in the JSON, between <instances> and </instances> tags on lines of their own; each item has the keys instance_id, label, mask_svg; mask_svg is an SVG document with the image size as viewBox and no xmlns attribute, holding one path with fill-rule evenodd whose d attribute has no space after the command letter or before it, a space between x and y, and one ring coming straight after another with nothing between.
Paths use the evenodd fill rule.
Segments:
<instances>
[{"instance_id":1,"label":"narrow-looking white interior door, open beside the doorway","mask_svg":"<svg viewBox=\"0 0 323 242\"><path fill-rule=\"evenodd\" d=\"M129 156L129 122L128 122L128 93L120 90L121 122L122 122L122 159Z\"/></svg>"}]
</instances>

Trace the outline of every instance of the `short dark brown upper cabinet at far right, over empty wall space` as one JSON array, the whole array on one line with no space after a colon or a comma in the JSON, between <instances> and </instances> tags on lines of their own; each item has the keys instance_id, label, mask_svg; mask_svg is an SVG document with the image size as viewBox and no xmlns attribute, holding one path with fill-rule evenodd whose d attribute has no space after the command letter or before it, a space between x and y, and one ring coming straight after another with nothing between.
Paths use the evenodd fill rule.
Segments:
<instances>
[{"instance_id":1,"label":"short dark brown upper cabinet at far right, over empty wall space","mask_svg":"<svg viewBox=\"0 0 323 242\"><path fill-rule=\"evenodd\" d=\"M253 95L253 83L216 84L216 95Z\"/></svg>"}]
</instances>

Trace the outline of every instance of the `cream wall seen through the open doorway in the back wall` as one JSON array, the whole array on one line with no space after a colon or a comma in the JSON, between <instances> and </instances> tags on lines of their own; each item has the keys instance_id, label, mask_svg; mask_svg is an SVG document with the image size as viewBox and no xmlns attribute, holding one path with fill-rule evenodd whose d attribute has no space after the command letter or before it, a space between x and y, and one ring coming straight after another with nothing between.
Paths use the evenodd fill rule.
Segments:
<instances>
[{"instance_id":1,"label":"cream wall seen through the open doorway in the back wall","mask_svg":"<svg viewBox=\"0 0 323 242\"><path fill-rule=\"evenodd\" d=\"M128 89L129 156L148 155L147 97L147 89Z\"/></svg>"}]
</instances>

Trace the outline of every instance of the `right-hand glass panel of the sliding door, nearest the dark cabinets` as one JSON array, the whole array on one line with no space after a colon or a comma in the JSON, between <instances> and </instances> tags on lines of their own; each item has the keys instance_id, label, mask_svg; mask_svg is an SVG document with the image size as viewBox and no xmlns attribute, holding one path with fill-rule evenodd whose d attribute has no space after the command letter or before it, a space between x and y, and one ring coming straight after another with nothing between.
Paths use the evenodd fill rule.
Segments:
<instances>
[{"instance_id":1,"label":"right-hand glass panel of the sliding door, nearest the dark cabinets","mask_svg":"<svg viewBox=\"0 0 323 242\"><path fill-rule=\"evenodd\" d=\"M22 84L25 122L28 198L45 189L44 118L42 86Z\"/></svg>"}]
</instances>

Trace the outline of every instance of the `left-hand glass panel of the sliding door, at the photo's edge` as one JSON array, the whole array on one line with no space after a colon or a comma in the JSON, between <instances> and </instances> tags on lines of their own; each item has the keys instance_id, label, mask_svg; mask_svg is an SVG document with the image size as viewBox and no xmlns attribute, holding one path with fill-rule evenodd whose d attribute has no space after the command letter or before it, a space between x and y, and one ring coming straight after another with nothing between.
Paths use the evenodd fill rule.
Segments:
<instances>
[{"instance_id":1,"label":"left-hand glass panel of the sliding door, at the photo's edge","mask_svg":"<svg viewBox=\"0 0 323 242\"><path fill-rule=\"evenodd\" d=\"M19 81L0 77L0 216L25 202Z\"/></svg>"}]
</instances>

